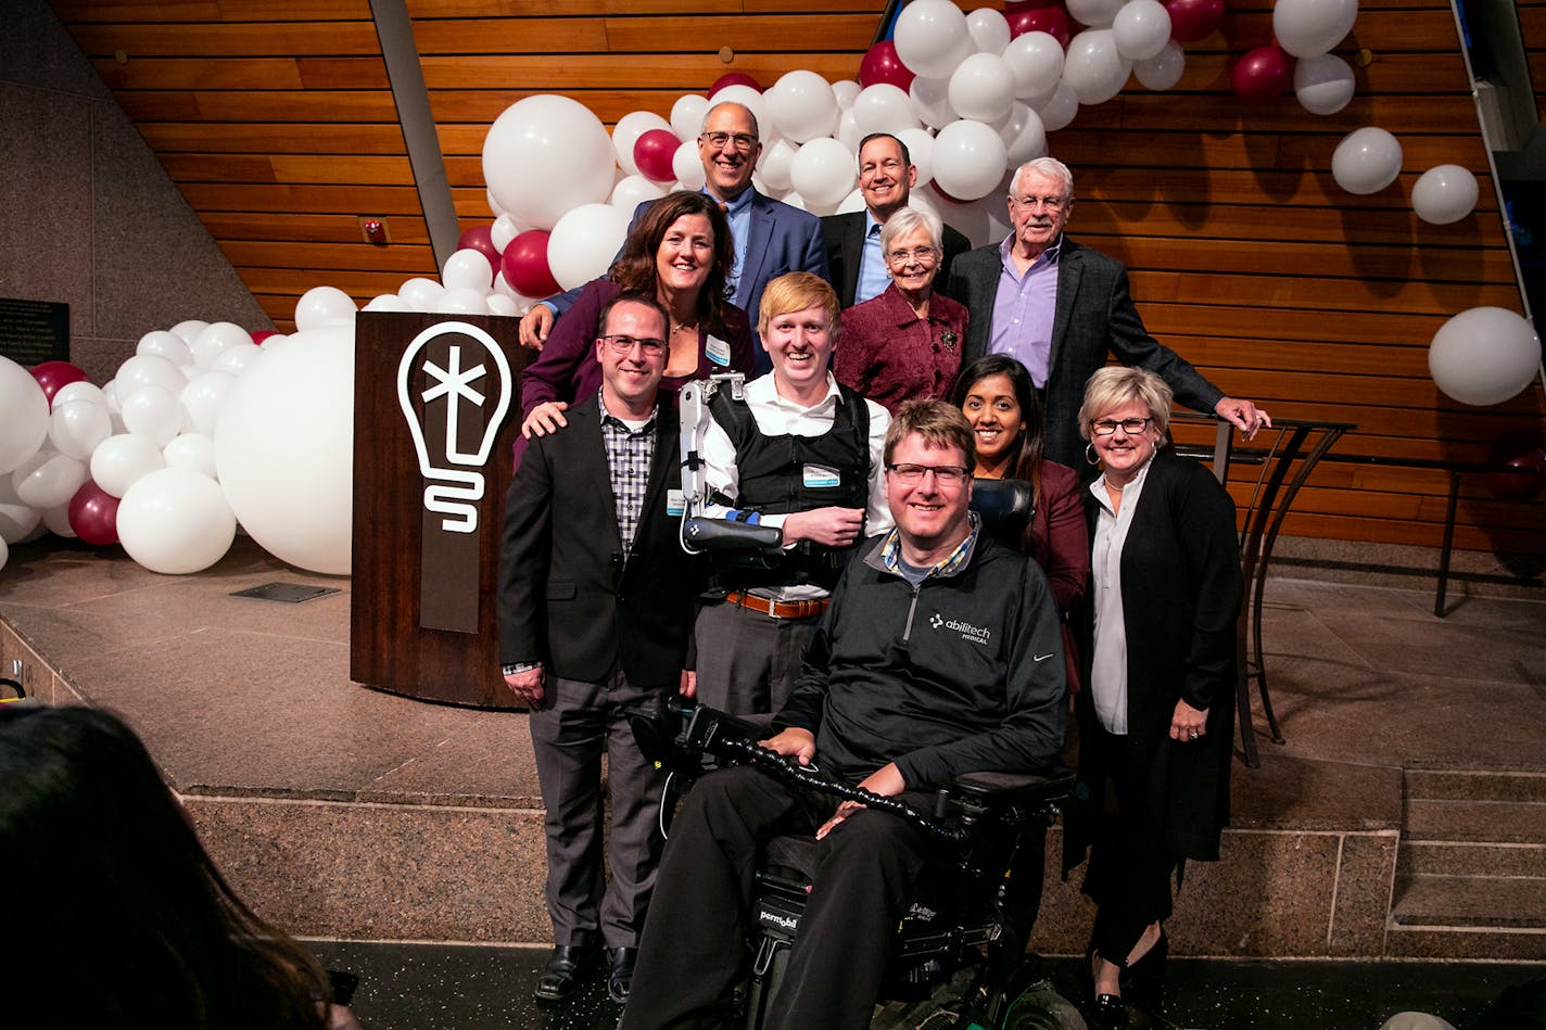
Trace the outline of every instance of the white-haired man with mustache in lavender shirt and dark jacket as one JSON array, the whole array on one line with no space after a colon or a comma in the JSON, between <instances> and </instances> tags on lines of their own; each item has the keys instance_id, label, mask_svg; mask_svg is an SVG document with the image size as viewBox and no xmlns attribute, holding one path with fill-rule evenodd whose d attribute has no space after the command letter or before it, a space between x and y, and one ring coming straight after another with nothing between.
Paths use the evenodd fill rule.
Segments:
<instances>
[{"instance_id":1,"label":"white-haired man with mustache in lavender shirt and dark jacket","mask_svg":"<svg viewBox=\"0 0 1546 1030\"><path fill-rule=\"evenodd\" d=\"M1215 413L1251 439L1272 425L1251 401L1226 397L1175 351L1149 336L1127 288L1127 269L1064 235L1073 209L1073 173L1053 158L1020 165L1010 182L1014 232L1002 243L963 254L945 294L966 305L971 320L962 363L1010 354L1044 393L1045 455L1088 469L1078 414L1084 384L1115 354L1156 373L1189 408Z\"/></svg>"}]
</instances>

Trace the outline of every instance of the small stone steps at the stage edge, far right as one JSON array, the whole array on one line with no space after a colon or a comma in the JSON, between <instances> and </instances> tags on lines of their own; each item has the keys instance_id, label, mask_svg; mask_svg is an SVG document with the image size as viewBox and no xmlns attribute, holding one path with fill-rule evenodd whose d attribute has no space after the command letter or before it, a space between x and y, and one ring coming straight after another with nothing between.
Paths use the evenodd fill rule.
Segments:
<instances>
[{"instance_id":1,"label":"small stone steps at the stage edge, far right","mask_svg":"<svg viewBox=\"0 0 1546 1030\"><path fill-rule=\"evenodd\" d=\"M1385 951L1546 959L1546 772L1405 770Z\"/></svg>"}]
</instances>

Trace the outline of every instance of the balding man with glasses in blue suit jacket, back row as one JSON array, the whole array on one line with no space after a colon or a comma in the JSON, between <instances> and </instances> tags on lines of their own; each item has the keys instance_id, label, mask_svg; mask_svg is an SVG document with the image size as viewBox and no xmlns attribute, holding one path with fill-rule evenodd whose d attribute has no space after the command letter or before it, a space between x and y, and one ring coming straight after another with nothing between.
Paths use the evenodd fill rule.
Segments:
<instances>
[{"instance_id":1,"label":"balding man with glasses in blue suit jacket, back row","mask_svg":"<svg viewBox=\"0 0 1546 1030\"><path fill-rule=\"evenodd\" d=\"M758 119L750 108L728 102L711 107L703 116L697 153L703 161L703 192L719 200L730 220L736 247L736 266L730 277L730 288L734 291L731 300L751 315L753 326L762 305L762 288L779 275L815 272L830 281L821 220L764 196L751 186L762 144L758 139ZM649 203L634 210L634 224ZM578 292L558 294L533 305L521 319L521 343L540 348L553 320L569 311ZM770 368L773 363L767 353L758 348L758 374Z\"/></svg>"}]
</instances>

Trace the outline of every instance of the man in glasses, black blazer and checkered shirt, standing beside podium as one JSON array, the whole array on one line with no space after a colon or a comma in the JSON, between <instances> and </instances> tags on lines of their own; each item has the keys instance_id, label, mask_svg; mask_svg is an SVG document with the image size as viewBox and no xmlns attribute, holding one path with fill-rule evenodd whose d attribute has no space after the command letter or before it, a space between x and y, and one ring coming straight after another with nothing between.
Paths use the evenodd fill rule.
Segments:
<instances>
[{"instance_id":1,"label":"man in glasses, black blazer and checkered shirt, standing beside podium","mask_svg":"<svg viewBox=\"0 0 1546 1030\"><path fill-rule=\"evenodd\" d=\"M696 585L671 510L682 483L677 416L656 404L666 325L652 297L608 305L595 342L600 394L530 442L506 498L499 660L532 708L557 945L536 985L547 1001L575 990L603 943L609 993L628 998L662 841L660 775L638 753L625 710L662 688L693 690L683 667Z\"/></svg>"}]
</instances>

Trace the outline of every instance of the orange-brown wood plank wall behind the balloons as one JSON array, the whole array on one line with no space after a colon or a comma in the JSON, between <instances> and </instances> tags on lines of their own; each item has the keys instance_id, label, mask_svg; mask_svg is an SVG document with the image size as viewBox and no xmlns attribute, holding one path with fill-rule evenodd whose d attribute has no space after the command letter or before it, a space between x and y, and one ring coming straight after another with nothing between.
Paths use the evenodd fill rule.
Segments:
<instances>
[{"instance_id":1,"label":"orange-brown wood plank wall behind the balloons","mask_svg":"<svg viewBox=\"0 0 1546 1030\"><path fill-rule=\"evenodd\" d=\"M959 0L963 8L980 6ZM329 283L360 302L434 261L366 0L53 0L189 203L272 317ZM604 122L668 114L725 71L771 85L858 70L881 0L410 0L441 145L464 224L487 221L489 124L533 93L564 93ZM1521 0L1541 71L1546 0ZM1444 319L1521 311L1455 19L1446 0L1364 0L1337 53L1357 96L1330 118L1289 96L1237 102L1232 56L1271 39L1271 0L1231 0L1187 45L1175 90L1133 80L1051 138L1078 176L1070 230L1129 263L1150 329L1226 391L1277 414L1359 424L1343 453L1483 461L1540 444L1540 384L1495 408L1446 399L1427 376ZM728 48L722 60L720 48ZM1396 133L1401 179L1374 196L1331 181L1336 142ZM1429 226L1411 184L1435 164L1481 178L1481 203ZM360 240L386 217L393 244ZM1326 464L1285 532L1436 544L1441 472ZM1546 501L1493 500L1472 478L1456 544L1546 552Z\"/></svg>"}]
</instances>

